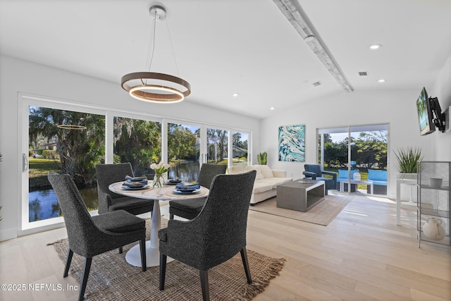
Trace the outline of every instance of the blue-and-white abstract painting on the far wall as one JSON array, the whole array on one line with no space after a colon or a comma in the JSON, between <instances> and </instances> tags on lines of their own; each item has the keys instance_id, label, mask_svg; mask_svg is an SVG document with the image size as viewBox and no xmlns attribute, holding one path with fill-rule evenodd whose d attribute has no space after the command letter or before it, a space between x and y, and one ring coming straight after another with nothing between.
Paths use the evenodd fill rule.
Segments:
<instances>
[{"instance_id":1,"label":"blue-and-white abstract painting on the far wall","mask_svg":"<svg viewBox=\"0 0 451 301\"><path fill-rule=\"evenodd\" d=\"M305 161L305 125L279 127L279 161Z\"/></svg>"}]
</instances>

